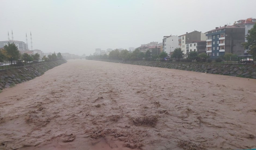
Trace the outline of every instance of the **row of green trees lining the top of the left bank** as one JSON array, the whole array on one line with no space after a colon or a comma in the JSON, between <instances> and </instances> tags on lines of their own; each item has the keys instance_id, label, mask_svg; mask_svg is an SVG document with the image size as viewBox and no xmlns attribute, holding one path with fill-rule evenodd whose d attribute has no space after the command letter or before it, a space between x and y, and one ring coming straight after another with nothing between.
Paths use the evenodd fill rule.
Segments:
<instances>
[{"instance_id":1,"label":"row of green trees lining the top of the left bank","mask_svg":"<svg viewBox=\"0 0 256 150\"><path fill-rule=\"evenodd\" d=\"M20 54L20 51L18 50L18 47L14 43L8 43L8 45L5 45L3 49L0 49L0 62L4 61L10 61L11 64L15 64L15 61L17 60L23 60L25 63L31 62L31 61L39 61L40 60L40 54ZM43 61L55 61L62 59L62 55L59 52L56 54L55 52L52 55L48 55L47 57L44 56L42 58Z\"/></svg>"}]
</instances>

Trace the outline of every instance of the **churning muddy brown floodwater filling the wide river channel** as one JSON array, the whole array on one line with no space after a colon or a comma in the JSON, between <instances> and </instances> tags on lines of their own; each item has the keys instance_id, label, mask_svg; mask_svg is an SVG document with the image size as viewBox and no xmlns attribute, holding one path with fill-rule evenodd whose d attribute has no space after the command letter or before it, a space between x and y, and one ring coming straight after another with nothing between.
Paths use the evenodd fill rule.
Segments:
<instances>
[{"instance_id":1,"label":"churning muddy brown floodwater filling the wide river channel","mask_svg":"<svg viewBox=\"0 0 256 150\"><path fill-rule=\"evenodd\" d=\"M4 150L256 148L256 80L69 60L0 93Z\"/></svg>"}]
</instances>

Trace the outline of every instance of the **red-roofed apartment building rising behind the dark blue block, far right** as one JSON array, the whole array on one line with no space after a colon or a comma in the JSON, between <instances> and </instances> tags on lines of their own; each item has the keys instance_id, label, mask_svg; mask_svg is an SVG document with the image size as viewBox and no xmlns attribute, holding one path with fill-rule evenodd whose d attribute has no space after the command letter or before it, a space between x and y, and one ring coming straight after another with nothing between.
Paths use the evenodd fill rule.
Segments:
<instances>
[{"instance_id":1,"label":"red-roofed apartment building rising behind the dark blue block, far right","mask_svg":"<svg viewBox=\"0 0 256 150\"><path fill-rule=\"evenodd\" d=\"M247 42L246 36L248 34L248 30L250 30L254 26L255 23L256 23L255 18L247 18L246 20L238 20L234 23L234 25L236 25L236 26L245 28L245 42Z\"/></svg>"}]
</instances>

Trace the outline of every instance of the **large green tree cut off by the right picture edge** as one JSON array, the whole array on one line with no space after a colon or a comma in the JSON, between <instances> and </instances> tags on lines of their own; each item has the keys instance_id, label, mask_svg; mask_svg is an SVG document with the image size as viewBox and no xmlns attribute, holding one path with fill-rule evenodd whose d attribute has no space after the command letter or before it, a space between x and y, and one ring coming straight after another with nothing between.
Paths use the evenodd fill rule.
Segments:
<instances>
[{"instance_id":1,"label":"large green tree cut off by the right picture edge","mask_svg":"<svg viewBox=\"0 0 256 150\"><path fill-rule=\"evenodd\" d=\"M247 42L244 42L242 45L247 50L249 49L249 53L252 54L252 56L256 57L256 24L248 30L248 34L246 36Z\"/></svg>"}]
</instances>

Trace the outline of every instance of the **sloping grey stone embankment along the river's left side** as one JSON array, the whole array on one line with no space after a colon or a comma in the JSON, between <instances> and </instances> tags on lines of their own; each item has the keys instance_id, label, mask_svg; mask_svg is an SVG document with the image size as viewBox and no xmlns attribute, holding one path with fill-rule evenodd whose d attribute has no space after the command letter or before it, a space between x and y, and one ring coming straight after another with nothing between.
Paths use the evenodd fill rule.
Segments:
<instances>
[{"instance_id":1,"label":"sloping grey stone embankment along the river's left side","mask_svg":"<svg viewBox=\"0 0 256 150\"><path fill-rule=\"evenodd\" d=\"M25 66L17 69L2 70L0 71L0 90L3 88L9 88L15 84L25 82L41 76L47 70L50 70L56 66L66 63L66 60L57 60L54 62L46 62L42 64L33 64L31 66Z\"/></svg>"}]
</instances>

